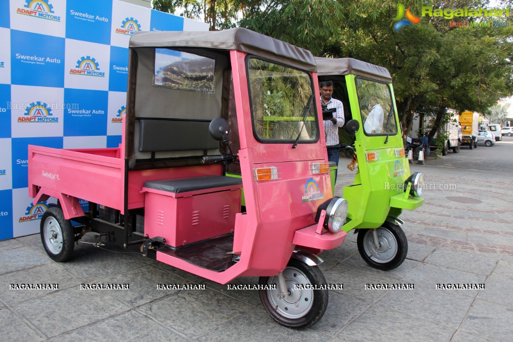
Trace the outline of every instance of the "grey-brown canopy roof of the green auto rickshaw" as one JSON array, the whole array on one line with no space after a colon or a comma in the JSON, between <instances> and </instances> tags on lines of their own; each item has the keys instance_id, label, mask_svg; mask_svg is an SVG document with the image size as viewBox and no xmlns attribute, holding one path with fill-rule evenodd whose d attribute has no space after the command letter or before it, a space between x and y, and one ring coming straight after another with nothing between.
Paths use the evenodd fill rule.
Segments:
<instances>
[{"instance_id":1,"label":"grey-brown canopy roof of the green auto rickshaw","mask_svg":"<svg viewBox=\"0 0 513 342\"><path fill-rule=\"evenodd\" d=\"M392 82L392 77L386 68L358 59L315 57L315 62L317 62L317 72L320 76L355 74Z\"/></svg>"}]
</instances>

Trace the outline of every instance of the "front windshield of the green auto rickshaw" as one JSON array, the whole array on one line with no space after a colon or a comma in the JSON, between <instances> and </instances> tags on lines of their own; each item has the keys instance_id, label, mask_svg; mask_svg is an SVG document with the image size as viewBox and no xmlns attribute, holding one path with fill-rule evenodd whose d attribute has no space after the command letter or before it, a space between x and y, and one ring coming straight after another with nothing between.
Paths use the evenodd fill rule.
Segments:
<instances>
[{"instance_id":1,"label":"front windshield of the green auto rickshaw","mask_svg":"<svg viewBox=\"0 0 513 342\"><path fill-rule=\"evenodd\" d=\"M392 96L386 83L355 79L365 135L397 134Z\"/></svg>"}]
</instances>

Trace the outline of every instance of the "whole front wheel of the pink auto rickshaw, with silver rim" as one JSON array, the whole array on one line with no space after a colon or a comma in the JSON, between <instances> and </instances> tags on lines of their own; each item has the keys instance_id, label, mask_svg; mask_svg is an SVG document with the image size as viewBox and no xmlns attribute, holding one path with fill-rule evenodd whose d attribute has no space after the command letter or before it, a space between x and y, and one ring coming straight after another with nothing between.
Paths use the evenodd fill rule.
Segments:
<instances>
[{"instance_id":1,"label":"whole front wheel of the pink auto rickshaw, with silver rim","mask_svg":"<svg viewBox=\"0 0 513 342\"><path fill-rule=\"evenodd\" d=\"M267 313L282 326L305 329L313 326L324 315L328 306L326 279L318 267L290 259L285 270L287 296L282 297L278 275L260 277L260 285L274 285L274 290L259 290L260 300ZM322 289L313 289L324 285Z\"/></svg>"}]
</instances>

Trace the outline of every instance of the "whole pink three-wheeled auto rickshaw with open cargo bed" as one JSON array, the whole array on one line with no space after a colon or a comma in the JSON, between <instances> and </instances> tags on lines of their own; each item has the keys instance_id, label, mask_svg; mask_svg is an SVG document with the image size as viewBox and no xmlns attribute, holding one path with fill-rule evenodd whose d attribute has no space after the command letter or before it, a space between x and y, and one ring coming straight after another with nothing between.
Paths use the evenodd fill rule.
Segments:
<instances>
[{"instance_id":1,"label":"whole pink three-wheeled auto rickshaw with open cargo bed","mask_svg":"<svg viewBox=\"0 0 513 342\"><path fill-rule=\"evenodd\" d=\"M242 28L135 33L129 47L119 148L29 146L30 196L58 199L41 220L48 255L66 261L97 232L220 284L259 276L274 320L317 323L318 254L344 242L348 205L332 193L312 54Z\"/></svg>"}]
</instances>

